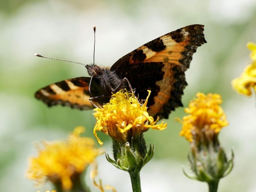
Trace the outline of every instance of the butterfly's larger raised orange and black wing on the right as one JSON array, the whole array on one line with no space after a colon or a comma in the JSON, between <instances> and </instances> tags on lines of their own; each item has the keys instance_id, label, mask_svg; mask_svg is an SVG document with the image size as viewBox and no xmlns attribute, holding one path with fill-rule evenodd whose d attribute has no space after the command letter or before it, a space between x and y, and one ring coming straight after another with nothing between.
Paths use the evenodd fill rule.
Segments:
<instances>
[{"instance_id":1,"label":"butterfly's larger raised orange and black wing on the right","mask_svg":"<svg viewBox=\"0 0 256 192\"><path fill-rule=\"evenodd\" d=\"M187 85L185 71L196 48L206 43L203 25L190 25L163 35L121 57L110 68L126 77L140 99L147 97L149 114L168 118L183 106L181 96Z\"/></svg>"}]
</instances>

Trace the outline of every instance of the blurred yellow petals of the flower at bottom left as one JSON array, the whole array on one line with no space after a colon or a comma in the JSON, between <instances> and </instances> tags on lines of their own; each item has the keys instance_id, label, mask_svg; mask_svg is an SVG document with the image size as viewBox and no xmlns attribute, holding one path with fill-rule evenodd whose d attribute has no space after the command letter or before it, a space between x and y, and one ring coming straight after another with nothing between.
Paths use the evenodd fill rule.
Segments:
<instances>
[{"instance_id":1,"label":"blurred yellow petals of the flower at bottom left","mask_svg":"<svg viewBox=\"0 0 256 192\"><path fill-rule=\"evenodd\" d=\"M27 177L39 184L45 180L61 183L64 190L72 188L72 179L80 175L95 158L102 154L94 148L91 138L80 137L83 127L77 127L67 140L43 142L38 155L31 157Z\"/></svg>"}]
</instances>

